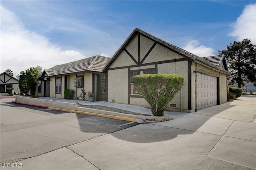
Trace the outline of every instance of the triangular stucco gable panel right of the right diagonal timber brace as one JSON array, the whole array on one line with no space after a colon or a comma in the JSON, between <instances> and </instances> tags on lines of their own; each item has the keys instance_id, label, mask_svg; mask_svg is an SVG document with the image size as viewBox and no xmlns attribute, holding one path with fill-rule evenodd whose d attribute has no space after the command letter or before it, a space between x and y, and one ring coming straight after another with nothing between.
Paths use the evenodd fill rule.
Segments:
<instances>
[{"instance_id":1,"label":"triangular stucco gable panel right of the right diagonal timber brace","mask_svg":"<svg viewBox=\"0 0 256 170\"><path fill-rule=\"evenodd\" d=\"M163 47L162 45L156 44L156 46L154 47L154 49L152 49L143 64L182 58L184 57L178 55L177 53L174 53L173 51Z\"/></svg>"}]
</instances>

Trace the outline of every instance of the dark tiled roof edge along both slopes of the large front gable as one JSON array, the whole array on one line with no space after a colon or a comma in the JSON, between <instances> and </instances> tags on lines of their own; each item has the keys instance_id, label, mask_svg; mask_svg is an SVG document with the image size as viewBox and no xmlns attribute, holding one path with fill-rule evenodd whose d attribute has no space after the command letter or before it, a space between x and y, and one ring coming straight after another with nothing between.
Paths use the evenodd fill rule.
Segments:
<instances>
[{"instance_id":1,"label":"dark tiled roof edge along both slopes of the large front gable","mask_svg":"<svg viewBox=\"0 0 256 170\"><path fill-rule=\"evenodd\" d=\"M201 57L194 55L180 47L177 47L175 45L172 45L162 39L159 39L158 37L155 37L139 28L135 28L132 33L128 36L128 38L124 41L124 43L121 45L121 47L116 51L116 53L112 56L112 58L108 61L108 63L106 64L106 66L104 67L103 71L105 71L108 66L116 59L116 57L122 52L122 50L125 48L125 46L130 42L130 40L137 34L140 33L141 35L144 35L145 37L148 37L149 39L151 39L152 41L155 41L161 45L163 45L164 47L171 49L173 51L176 51L177 53L180 53L181 55L183 55L184 57L186 57L187 59L194 61L196 63L199 64L203 64L205 66L208 66L210 68L215 68L216 70L220 70L220 72L223 72L225 74L230 74L227 70L223 70L222 68L219 68L218 66L216 66L215 64L210 63L209 61L202 59Z\"/></svg>"}]
</instances>

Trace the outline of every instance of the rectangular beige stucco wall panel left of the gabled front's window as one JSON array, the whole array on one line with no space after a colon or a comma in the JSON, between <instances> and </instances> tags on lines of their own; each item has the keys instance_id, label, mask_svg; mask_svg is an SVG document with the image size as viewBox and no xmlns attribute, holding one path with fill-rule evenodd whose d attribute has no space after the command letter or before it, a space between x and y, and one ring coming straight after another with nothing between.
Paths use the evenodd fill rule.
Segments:
<instances>
[{"instance_id":1,"label":"rectangular beige stucco wall panel left of the gabled front's window","mask_svg":"<svg viewBox=\"0 0 256 170\"><path fill-rule=\"evenodd\" d=\"M128 104L128 68L108 70L108 102Z\"/></svg>"}]
</instances>

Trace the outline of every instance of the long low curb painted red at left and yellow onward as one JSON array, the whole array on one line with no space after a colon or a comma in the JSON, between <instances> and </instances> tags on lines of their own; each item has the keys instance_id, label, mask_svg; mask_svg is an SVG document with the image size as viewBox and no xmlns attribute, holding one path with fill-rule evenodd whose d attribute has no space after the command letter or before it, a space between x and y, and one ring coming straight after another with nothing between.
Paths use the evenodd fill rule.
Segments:
<instances>
[{"instance_id":1,"label":"long low curb painted red at left and yellow onward","mask_svg":"<svg viewBox=\"0 0 256 170\"><path fill-rule=\"evenodd\" d=\"M136 119L130 118L130 117L121 117L121 116L114 116L114 115L103 115L103 114L99 114L99 113L89 113L89 112L85 112L85 111L76 111L76 110L69 110L69 109L60 109L60 108L56 108L56 107L38 106L38 105L33 105L33 104L24 104L24 103L20 103L20 102L16 102L16 101L14 101L14 103L21 104L21 105L27 105L27 106L33 106L33 107L40 107L40 108L44 108L44 109L53 109L53 110L59 110L59 111L66 111L66 112L84 114L84 115L92 115L92 116L106 117L106 118L110 118L110 119L130 121L130 122L133 122L133 123L134 122L141 123L140 120L136 120Z\"/></svg>"}]
</instances>

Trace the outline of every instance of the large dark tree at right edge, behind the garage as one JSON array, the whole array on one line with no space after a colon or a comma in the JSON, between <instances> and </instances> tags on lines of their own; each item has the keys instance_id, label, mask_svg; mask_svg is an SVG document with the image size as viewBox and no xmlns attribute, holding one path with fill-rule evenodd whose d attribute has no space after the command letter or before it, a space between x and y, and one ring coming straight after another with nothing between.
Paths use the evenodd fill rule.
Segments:
<instances>
[{"instance_id":1,"label":"large dark tree at right edge, behind the garage","mask_svg":"<svg viewBox=\"0 0 256 170\"><path fill-rule=\"evenodd\" d=\"M227 46L226 50L219 51L219 54L226 55L227 63L232 74L231 82L236 82L242 87L244 82L256 81L256 45L250 39L242 42L234 41Z\"/></svg>"}]
</instances>

